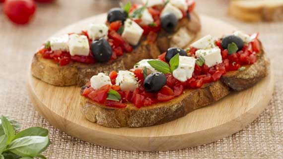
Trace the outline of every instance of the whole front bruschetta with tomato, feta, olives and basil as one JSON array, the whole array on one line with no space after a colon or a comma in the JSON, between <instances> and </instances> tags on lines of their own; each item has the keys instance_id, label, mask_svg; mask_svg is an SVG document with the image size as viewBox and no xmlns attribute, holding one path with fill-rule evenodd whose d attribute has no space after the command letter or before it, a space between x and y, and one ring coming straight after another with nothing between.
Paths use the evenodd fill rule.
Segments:
<instances>
[{"instance_id":1,"label":"whole front bruschetta with tomato, feta, olives and basil","mask_svg":"<svg viewBox=\"0 0 283 159\"><path fill-rule=\"evenodd\" d=\"M106 127L161 124L252 87L268 67L258 34L236 31L216 40L208 35L130 70L94 75L81 88L80 110Z\"/></svg>"}]
</instances>

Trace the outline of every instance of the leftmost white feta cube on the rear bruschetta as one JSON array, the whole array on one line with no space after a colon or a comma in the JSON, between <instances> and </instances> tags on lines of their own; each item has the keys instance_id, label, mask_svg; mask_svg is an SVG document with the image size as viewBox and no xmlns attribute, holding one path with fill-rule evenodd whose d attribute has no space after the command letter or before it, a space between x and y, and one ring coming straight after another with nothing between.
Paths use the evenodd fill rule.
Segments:
<instances>
[{"instance_id":1,"label":"leftmost white feta cube on the rear bruschetta","mask_svg":"<svg viewBox=\"0 0 283 159\"><path fill-rule=\"evenodd\" d=\"M53 37L50 39L50 46L52 51L60 50L64 52L69 51L68 47L69 35L61 35L59 37Z\"/></svg>"}]
</instances>

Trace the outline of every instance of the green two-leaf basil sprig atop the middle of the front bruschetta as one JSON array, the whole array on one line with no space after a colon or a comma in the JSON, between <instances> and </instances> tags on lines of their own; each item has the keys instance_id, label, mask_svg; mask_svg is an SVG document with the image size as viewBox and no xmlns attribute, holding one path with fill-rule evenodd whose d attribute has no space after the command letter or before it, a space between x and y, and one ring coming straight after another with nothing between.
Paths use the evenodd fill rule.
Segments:
<instances>
[{"instance_id":1,"label":"green two-leaf basil sprig atop the middle of the front bruschetta","mask_svg":"<svg viewBox=\"0 0 283 159\"><path fill-rule=\"evenodd\" d=\"M179 53L175 54L169 61L170 66L168 63L160 61L160 60L150 60L147 61L147 63L150 64L151 67L153 67L155 70L162 72L164 74L166 73L173 73L175 69L179 66Z\"/></svg>"}]
</instances>

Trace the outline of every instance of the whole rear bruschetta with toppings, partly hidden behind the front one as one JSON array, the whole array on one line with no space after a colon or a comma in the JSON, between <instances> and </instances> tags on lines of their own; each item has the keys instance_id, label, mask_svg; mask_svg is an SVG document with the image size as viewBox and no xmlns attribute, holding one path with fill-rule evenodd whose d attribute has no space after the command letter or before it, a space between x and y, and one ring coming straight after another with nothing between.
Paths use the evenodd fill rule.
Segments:
<instances>
[{"instance_id":1,"label":"whole rear bruschetta with toppings, partly hidden behind the front one","mask_svg":"<svg viewBox=\"0 0 283 159\"><path fill-rule=\"evenodd\" d=\"M201 29L194 7L193 0L143 0L112 8L106 24L50 38L33 57L32 75L55 86L82 86L93 74L184 48Z\"/></svg>"}]
</instances>

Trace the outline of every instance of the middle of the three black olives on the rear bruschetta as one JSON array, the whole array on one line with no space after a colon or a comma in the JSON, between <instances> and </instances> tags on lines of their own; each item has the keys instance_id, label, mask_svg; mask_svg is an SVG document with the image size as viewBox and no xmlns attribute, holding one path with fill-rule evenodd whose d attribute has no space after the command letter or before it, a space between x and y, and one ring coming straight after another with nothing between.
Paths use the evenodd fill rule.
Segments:
<instances>
[{"instance_id":1,"label":"middle of the three black olives on the rear bruschetta","mask_svg":"<svg viewBox=\"0 0 283 159\"><path fill-rule=\"evenodd\" d=\"M112 23L117 20L121 20L123 23L127 19L128 14L121 8L112 8L108 11L107 20Z\"/></svg>"}]
</instances>

